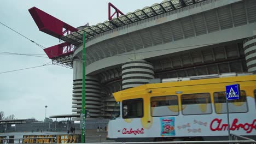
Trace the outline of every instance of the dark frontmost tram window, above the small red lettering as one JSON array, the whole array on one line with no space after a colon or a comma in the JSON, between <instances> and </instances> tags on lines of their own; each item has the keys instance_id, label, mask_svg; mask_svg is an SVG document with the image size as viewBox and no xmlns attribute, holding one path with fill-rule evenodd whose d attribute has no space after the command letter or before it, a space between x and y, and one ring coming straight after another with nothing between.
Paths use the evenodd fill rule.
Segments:
<instances>
[{"instance_id":1,"label":"dark frontmost tram window, above the small red lettering","mask_svg":"<svg viewBox=\"0 0 256 144\"><path fill-rule=\"evenodd\" d=\"M143 117L143 99L123 100L123 118Z\"/></svg>"}]
</instances>

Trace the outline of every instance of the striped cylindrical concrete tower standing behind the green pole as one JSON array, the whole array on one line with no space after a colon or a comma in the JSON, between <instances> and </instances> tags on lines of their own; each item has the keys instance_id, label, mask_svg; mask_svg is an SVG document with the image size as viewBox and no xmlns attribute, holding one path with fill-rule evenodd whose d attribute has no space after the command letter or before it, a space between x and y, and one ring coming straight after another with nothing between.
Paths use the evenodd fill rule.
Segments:
<instances>
[{"instance_id":1,"label":"striped cylindrical concrete tower standing behind the green pole","mask_svg":"<svg viewBox=\"0 0 256 144\"><path fill-rule=\"evenodd\" d=\"M80 113L82 110L82 63L73 62L73 106L72 112ZM101 86L93 76L86 76L86 110L89 110L91 118L101 117ZM79 119L79 118L78 118Z\"/></svg>"}]
</instances>

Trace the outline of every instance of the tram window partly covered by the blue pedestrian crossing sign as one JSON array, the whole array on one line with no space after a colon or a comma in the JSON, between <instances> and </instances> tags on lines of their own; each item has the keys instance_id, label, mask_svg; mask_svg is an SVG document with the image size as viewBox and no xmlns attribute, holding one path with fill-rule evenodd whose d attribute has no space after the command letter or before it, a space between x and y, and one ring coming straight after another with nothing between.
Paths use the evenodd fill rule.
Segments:
<instances>
[{"instance_id":1,"label":"tram window partly covered by the blue pedestrian crossing sign","mask_svg":"<svg viewBox=\"0 0 256 144\"><path fill-rule=\"evenodd\" d=\"M213 95L216 113L226 113L226 92L215 92ZM240 99L228 100L228 103L230 113L248 111L245 91L240 91Z\"/></svg>"}]
</instances>

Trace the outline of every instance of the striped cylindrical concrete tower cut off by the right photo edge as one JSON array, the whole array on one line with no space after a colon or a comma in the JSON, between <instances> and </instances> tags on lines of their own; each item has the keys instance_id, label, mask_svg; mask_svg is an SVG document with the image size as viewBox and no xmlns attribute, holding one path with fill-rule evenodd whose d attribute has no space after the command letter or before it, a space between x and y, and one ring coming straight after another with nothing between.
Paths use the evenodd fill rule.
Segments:
<instances>
[{"instance_id":1,"label":"striped cylindrical concrete tower cut off by the right photo edge","mask_svg":"<svg viewBox=\"0 0 256 144\"><path fill-rule=\"evenodd\" d=\"M256 73L256 35L243 41L248 72Z\"/></svg>"}]
</instances>

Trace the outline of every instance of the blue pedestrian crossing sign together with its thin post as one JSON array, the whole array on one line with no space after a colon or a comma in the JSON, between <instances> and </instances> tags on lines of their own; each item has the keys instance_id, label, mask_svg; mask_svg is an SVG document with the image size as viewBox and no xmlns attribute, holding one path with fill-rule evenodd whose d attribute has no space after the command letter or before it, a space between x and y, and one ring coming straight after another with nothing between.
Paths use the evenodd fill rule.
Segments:
<instances>
[{"instance_id":1,"label":"blue pedestrian crossing sign together with its thin post","mask_svg":"<svg viewBox=\"0 0 256 144\"><path fill-rule=\"evenodd\" d=\"M229 103L228 100L240 99L240 86L239 84L226 86L226 115L228 117L228 134L230 137L230 124L229 124Z\"/></svg>"}]
</instances>

